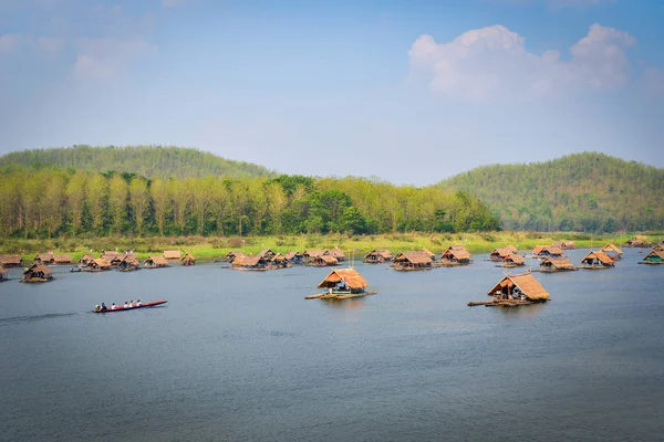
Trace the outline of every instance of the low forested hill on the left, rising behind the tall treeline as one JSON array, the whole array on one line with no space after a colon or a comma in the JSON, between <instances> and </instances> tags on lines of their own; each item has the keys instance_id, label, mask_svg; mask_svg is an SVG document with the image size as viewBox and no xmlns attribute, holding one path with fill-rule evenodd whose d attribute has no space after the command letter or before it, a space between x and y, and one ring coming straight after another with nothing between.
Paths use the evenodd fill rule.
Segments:
<instances>
[{"instance_id":1,"label":"low forested hill on the left, rising behind the tall treeline","mask_svg":"<svg viewBox=\"0 0 664 442\"><path fill-rule=\"evenodd\" d=\"M21 150L0 157L0 167L15 164L32 166L35 162L90 172L108 170L134 172L147 178L208 176L247 178L276 175L262 166L234 161L214 154L181 147L79 145L66 148Z\"/></svg>"}]
</instances>

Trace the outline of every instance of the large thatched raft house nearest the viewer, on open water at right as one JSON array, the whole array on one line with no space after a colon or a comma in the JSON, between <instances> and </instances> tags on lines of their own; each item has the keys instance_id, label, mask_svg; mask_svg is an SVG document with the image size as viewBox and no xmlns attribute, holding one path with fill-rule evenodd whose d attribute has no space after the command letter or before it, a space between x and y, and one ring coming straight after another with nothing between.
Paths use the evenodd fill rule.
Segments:
<instances>
[{"instance_id":1,"label":"large thatched raft house nearest the viewer, on open water at right","mask_svg":"<svg viewBox=\"0 0 664 442\"><path fill-rule=\"evenodd\" d=\"M517 307L520 305L546 303L549 293L531 273L506 275L496 284L487 296L491 301L471 301L468 306L485 305L487 307Z\"/></svg>"}]
</instances>

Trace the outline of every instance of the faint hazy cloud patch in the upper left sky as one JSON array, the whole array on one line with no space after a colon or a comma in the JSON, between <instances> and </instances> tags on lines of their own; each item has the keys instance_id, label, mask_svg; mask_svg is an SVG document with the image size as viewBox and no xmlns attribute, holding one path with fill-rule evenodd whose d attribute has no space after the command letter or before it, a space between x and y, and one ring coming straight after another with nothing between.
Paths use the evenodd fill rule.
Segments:
<instances>
[{"instance_id":1,"label":"faint hazy cloud patch in the upper left sky","mask_svg":"<svg viewBox=\"0 0 664 442\"><path fill-rule=\"evenodd\" d=\"M143 39L79 39L74 41L81 77L108 78L124 71L134 60L152 54L156 48Z\"/></svg>"}]
</instances>

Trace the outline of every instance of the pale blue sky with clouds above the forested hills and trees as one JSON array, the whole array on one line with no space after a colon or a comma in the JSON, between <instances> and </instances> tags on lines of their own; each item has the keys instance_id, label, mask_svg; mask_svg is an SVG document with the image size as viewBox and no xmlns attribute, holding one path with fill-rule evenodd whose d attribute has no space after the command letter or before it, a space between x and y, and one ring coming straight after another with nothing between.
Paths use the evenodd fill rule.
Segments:
<instances>
[{"instance_id":1,"label":"pale blue sky with clouds above the forested hills and trees","mask_svg":"<svg viewBox=\"0 0 664 442\"><path fill-rule=\"evenodd\" d=\"M0 0L0 155L196 147L435 183L601 151L664 167L664 1Z\"/></svg>"}]
</instances>

